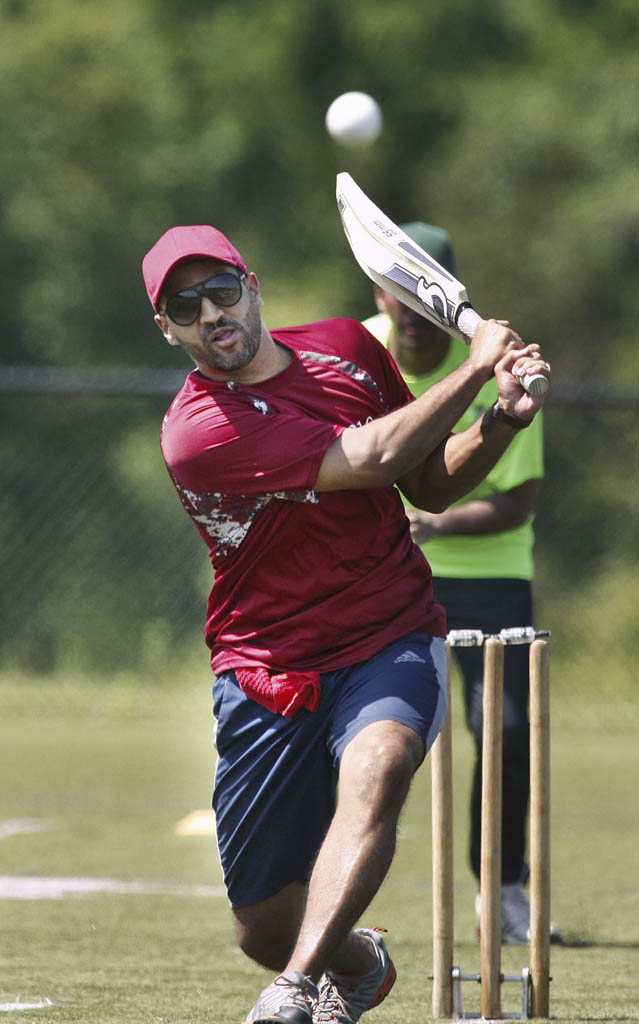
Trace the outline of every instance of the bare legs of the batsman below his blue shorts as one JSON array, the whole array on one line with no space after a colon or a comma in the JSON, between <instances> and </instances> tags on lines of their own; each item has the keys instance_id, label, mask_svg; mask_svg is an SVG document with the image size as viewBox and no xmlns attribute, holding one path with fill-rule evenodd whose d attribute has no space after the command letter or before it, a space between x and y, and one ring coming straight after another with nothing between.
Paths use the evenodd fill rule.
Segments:
<instances>
[{"instance_id":1,"label":"bare legs of the batsman below his blue shorts","mask_svg":"<svg viewBox=\"0 0 639 1024\"><path fill-rule=\"evenodd\" d=\"M342 756L337 810L307 893L294 883L235 911L250 956L314 981L327 967L355 975L372 968L370 942L351 929L390 867L399 812L423 757L420 736L396 722L375 722L354 736Z\"/></svg>"}]
</instances>

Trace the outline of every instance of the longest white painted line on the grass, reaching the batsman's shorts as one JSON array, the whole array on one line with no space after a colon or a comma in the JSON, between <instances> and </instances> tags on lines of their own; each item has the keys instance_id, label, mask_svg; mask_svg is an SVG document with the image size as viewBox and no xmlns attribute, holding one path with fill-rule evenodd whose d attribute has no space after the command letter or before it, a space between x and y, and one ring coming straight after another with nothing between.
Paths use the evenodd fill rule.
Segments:
<instances>
[{"instance_id":1,"label":"longest white painted line on the grass, reaching the batsman's shorts","mask_svg":"<svg viewBox=\"0 0 639 1024\"><path fill-rule=\"evenodd\" d=\"M67 896L111 895L223 896L222 886L173 885L165 882L125 882L119 879L41 878L0 874L0 899L63 899Z\"/></svg>"}]
</instances>

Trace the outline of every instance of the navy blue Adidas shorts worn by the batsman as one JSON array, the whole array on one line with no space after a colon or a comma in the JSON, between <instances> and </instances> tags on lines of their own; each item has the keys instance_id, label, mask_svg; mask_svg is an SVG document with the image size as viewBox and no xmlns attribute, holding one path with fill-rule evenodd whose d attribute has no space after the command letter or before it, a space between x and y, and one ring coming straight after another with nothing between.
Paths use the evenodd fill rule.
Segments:
<instances>
[{"instance_id":1,"label":"navy blue Adidas shorts worn by the batsman","mask_svg":"<svg viewBox=\"0 0 639 1024\"><path fill-rule=\"evenodd\" d=\"M213 686L213 808L231 906L306 882L335 811L344 748L365 726L410 726L429 750L445 713L443 640L412 633L366 662L321 675L314 712L284 718L247 697L232 671Z\"/></svg>"}]
</instances>

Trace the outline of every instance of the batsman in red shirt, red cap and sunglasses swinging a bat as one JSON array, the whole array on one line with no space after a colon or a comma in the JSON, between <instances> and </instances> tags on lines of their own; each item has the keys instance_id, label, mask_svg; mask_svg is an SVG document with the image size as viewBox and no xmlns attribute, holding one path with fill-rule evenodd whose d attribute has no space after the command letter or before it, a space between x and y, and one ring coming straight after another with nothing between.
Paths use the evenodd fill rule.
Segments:
<instances>
[{"instance_id":1,"label":"batsman in red shirt, red cap and sunglasses swinging a bat","mask_svg":"<svg viewBox=\"0 0 639 1024\"><path fill-rule=\"evenodd\" d=\"M269 331L214 227L171 228L142 270L197 367L162 451L214 569L213 803L238 940L280 972L247 1022L348 1024L394 982L381 935L354 926L445 702L445 616L395 483L429 511L474 487L541 406L518 376L547 368L489 321L413 400L356 321ZM494 374L498 402L452 433Z\"/></svg>"}]
</instances>

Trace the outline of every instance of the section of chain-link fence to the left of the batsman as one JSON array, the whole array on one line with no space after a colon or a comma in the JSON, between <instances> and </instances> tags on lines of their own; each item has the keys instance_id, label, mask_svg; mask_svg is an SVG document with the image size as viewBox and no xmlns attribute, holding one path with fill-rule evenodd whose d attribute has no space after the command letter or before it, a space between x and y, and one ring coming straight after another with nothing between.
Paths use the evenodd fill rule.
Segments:
<instances>
[{"instance_id":1,"label":"section of chain-link fence to the left of the batsman","mask_svg":"<svg viewBox=\"0 0 639 1024\"><path fill-rule=\"evenodd\" d=\"M183 377L3 375L5 666L163 671L203 643L211 568L159 449Z\"/></svg>"}]
</instances>

